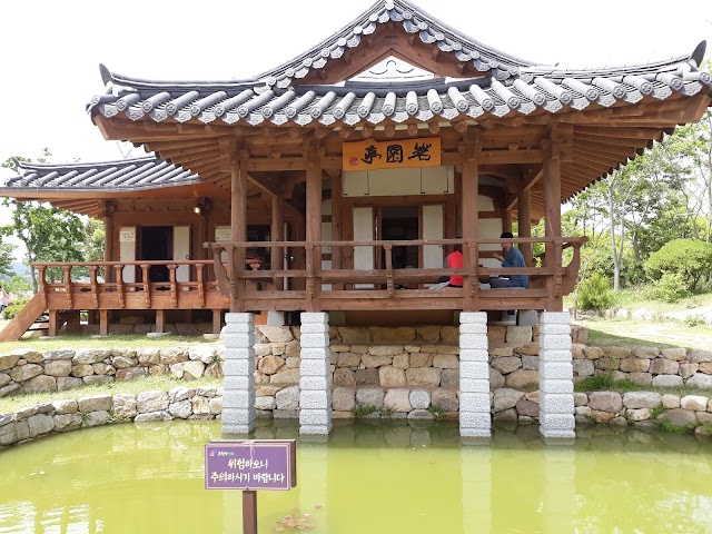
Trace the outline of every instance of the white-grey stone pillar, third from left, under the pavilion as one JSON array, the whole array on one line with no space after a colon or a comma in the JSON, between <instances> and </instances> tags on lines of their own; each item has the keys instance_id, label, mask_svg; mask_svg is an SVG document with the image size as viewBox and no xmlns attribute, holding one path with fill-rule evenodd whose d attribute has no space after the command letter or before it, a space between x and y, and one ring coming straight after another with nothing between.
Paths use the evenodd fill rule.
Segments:
<instances>
[{"instance_id":1,"label":"white-grey stone pillar, third from left, under the pavilion","mask_svg":"<svg viewBox=\"0 0 712 534\"><path fill-rule=\"evenodd\" d=\"M487 352L487 314L459 314L459 435L488 437L490 354Z\"/></svg>"}]
</instances>

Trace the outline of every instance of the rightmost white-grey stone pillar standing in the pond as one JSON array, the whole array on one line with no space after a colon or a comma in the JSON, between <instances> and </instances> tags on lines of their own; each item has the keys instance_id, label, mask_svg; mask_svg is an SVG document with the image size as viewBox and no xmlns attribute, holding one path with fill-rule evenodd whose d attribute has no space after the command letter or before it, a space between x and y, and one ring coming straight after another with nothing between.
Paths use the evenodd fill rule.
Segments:
<instances>
[{"instance_id":1,"label":"rightmost white-grey stone pillar standing in the pond","mask_svg":"<svg viewBox=\"0 0 712 534\"><path fill-rule=\"evenodd\" d=\"M573 438L574 372L568 312L540 317L540 432L544 437Z\"/></svg>"}]
</instances>

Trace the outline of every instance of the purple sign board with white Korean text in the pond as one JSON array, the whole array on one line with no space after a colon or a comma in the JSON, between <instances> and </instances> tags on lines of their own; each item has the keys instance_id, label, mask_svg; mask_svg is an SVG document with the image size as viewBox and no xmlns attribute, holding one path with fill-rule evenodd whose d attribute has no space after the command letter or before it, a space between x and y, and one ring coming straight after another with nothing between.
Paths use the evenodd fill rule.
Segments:
<instances>
[{"instance_id":1,"label":"purple sign board with white Korean text in the pond","mask_svg":"<svg viewBox=\"0 0 712 534\"><path fill-rule=\"evenodd\" d=\"M206 490L279 490L297 485L294 439L219 441L205 445Z\"/></svg>"}]
</instances>

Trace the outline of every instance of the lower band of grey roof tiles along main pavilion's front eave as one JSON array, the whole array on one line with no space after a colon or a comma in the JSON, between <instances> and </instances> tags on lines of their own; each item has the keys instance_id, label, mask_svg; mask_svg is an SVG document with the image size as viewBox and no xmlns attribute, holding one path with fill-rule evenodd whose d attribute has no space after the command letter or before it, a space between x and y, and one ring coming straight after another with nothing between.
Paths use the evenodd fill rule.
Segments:
<instances>
[{"instance_id":1,"label":"lower band of grey roof tiles along main pavilion's front eave","mask_svg":"<svg viewBox=\"0 0 712 534\"><path fill-rule=\"evenodd\" d=\"M448 83L346 83L287 90L254 85L220 89L195 85L184 89L178 85L160 92L125 86L118 95L95 97L89 107L105 117L125 113L135 121L150 118L161 122L172 118L178 122L198 119L206 125L218 121L339 126L362 120L377 125L386 119L394 122L438 117L453 120L459 116L484 119L530 115L538 109L555 113L582 110L592 103L610 107L619 101L635 103L644 97L665 100L675 93L693 96L703 89L712 90L710 75L695 71L681 60L647 70L533 70L503 81L476 78Z\"/></svg>"}]
</instances>

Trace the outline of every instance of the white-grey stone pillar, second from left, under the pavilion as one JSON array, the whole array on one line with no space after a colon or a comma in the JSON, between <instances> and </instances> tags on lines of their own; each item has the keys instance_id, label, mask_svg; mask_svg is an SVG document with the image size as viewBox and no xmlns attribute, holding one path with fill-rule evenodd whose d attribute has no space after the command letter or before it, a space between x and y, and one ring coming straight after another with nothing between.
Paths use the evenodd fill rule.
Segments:
<instances>
[{"instance_id":1,"label":"white-grey stone pillar, second from left, under the pavilion","mask_svg":"<svg viewBox=\"0 0 712 534\"><path fill-rule=\"evenodd\" d=\"M328 314L301 314L299 364L299 433L332 431L332 372Z\"/></svg>"}]
</instances>

